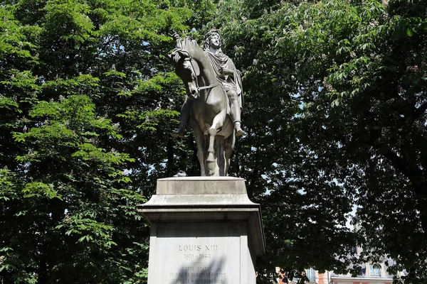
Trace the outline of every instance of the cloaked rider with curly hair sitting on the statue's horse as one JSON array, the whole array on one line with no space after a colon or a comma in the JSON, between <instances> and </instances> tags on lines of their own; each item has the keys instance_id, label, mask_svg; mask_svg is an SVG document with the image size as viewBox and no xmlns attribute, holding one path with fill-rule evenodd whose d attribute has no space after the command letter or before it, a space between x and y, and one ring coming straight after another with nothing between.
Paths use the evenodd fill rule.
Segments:
<instances>
[{"instance_id":1,"label":"cloaked rider with curly hair sitting on the statue's horse","mask_svg":"<svg viewBox=\"0 0 427 284\"><path fill-rule=\"evenodd\" d=\"M243 90L241 72L234 66L233 60L223 54L221 50L221 37L219 31L213 30L206 34L204 43L204 53L214 67L216 79L223 85L230 101L230 115L233 119L236 137L242 136L245 132L241 129L241 109L243 102ZM184 138L185 129L190 119L190 107L188 101L184 102L181 109L181 121L179 129L172 133L172 136Z\"/></svg>"}]
</instances>

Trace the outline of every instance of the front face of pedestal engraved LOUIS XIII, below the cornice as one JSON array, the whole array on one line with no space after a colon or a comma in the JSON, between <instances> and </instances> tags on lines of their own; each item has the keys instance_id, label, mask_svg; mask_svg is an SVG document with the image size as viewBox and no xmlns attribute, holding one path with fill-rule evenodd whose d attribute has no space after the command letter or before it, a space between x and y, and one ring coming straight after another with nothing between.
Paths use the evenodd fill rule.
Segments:
<instances>
[{"instance_id":1,"label":"front face of pedestal engraved LOUIS XIII, below the cornice","mask_svg":"<svg viewBox=\"0 0 427 284\"><path fill-rule=\"evenodd\" d=\"M245 231L241 226L211 222L156 224L150 246L157 252L150 258L149 283L240 283L241 231Z\"/></svg>"}]
</instances>

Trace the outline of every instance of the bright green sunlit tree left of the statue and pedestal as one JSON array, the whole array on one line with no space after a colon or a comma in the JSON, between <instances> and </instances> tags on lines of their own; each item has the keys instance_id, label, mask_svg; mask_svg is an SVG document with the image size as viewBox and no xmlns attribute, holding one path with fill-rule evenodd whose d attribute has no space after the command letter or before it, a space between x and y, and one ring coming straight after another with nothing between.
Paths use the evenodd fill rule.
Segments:
<instances>
[{"instance_id":1,"label":"bright green sunlit tree left of the statue and pedestal","mask_svg":"<svg viewBox=\"0 0 427 284\"><path fill-rule=\"evenodd\" d=\"M169 34L208 21L206 5L1 4L2 281L146 281L149 229L136 204L191 153L164 138L184 100Z\"/></svg>"}]
</instances>

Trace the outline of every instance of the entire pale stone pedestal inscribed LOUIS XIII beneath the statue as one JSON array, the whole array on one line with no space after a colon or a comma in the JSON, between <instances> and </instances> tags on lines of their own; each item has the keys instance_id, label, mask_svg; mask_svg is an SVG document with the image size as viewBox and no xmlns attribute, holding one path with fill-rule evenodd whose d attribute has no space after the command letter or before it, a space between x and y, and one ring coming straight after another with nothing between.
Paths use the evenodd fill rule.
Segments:
<instances>
[{"instance_id":1,"label":"entire pale stone pedestal inscribed LOUIS XIII beneath the statue","mask_svg":"<svg viewBox=\"0 0 427 284\"><path fill-rule=\"evenodd\" d=\"M151 224L148 284L255 284L265 240L243 179L160 179L138 211Z\"/></svg>"}]
</instances>

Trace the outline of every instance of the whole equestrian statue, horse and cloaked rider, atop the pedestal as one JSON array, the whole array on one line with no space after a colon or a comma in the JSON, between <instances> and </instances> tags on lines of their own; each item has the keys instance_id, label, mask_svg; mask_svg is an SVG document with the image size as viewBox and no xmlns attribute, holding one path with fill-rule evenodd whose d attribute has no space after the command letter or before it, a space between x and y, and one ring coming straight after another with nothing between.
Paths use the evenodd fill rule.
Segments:
<instances>
[{"instance_id":1,"label":"whole equestrian statue, horse and cloaked rider, atop the pedestal","mask_svg":"<svg viewBox=\"0 0 427 284\"><path fill-rule=\"evenodd\" d=\"M179 129L172 136L184 138L193 129L201 175L227 175L236 137L241 128L243 89L241 72L221 50L217 30L206 34L204 50L189 37L178 35L169 57L184 82L186 100Z\"/></svg>"}]
</instances>

